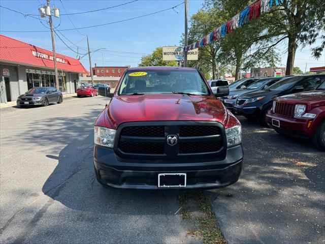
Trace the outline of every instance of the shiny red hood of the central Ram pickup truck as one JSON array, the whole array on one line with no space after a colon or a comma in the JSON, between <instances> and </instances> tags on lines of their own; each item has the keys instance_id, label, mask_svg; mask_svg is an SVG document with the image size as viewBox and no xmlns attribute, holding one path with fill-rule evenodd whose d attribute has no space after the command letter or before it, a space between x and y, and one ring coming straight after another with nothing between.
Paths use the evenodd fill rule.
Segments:
<instances>
[{"instance_id":1,"label":"shiny red hood of the central Ram pickup truck","mask_svg":"<svg viewBox=\"0 0 325 244\"><path fill-rule=\"evenodd\" d=\"M229 119L220 100L181 94L113 97L108 115L115 128L130 121L201 120L218 121L224 125Z\"/></svg>"}]
</instances>

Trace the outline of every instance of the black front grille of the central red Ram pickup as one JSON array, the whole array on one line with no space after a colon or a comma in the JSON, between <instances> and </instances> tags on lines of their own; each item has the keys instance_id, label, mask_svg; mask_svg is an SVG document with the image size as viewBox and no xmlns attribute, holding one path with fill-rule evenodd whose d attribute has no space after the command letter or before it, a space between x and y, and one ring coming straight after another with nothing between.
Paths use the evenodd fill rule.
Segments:
<instances>
[{"instance_id":1,"label":"black front grille of the central red Ram pickup","mask_svg":"<svg viewBox=\"0 0 325 244\"><path fill-rule=\"evenodd\" d=\"M149 125L140 125L149 124ZM157 124L157 125L154 125ZM202 125L197 125L202 124ZM169 135L177 136L177 143L167 142ZM217 154L225 145L220 123L194 121L157 121L122 124L117 130L116 152L121 157L178 158L193 154Z\"/></svg>"}]
</instances>

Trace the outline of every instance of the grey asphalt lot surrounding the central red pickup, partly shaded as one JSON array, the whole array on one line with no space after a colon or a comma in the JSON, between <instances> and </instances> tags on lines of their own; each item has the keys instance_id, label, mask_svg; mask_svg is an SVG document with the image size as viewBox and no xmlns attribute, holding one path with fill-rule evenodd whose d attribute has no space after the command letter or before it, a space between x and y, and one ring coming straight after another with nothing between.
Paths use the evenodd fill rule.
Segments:
<instances>
[{"instance_id":1,"label":"grey asphalt lot surrounding the central red pickup, partly shaded","mask_svg":"<svg viewBox=\"0 0 325 244\"><path fill-rule=\"evenodd\" d=\"M1 243L196 243L179 191L104 189L93 173L102 97L1 110ZM325 243L325 154L239 117L240 180L205 191L229 243Z\"/></svg>"}]
</instances>

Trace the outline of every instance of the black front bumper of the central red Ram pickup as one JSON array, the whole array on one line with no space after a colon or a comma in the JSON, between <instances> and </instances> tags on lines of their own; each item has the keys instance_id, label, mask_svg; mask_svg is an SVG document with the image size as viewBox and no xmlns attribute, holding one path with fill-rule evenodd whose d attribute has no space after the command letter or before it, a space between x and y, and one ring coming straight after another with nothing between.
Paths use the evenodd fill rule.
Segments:
<instances>
[{"instance_id":1,"label":"black front bumper of the central red Ram pickup","mask_svg":"<svg viewBox=\"0 0 325 244\"><path fill-rule=\"evenodd\" d=\"M186 173L185 189L222 188L234 184L241 173L243 164L242 145L227 149L222 161L156 163L154 160L143 162L125 161L114 154L113 149L94 147L95 174L105 186L124 189L160 189L159 173ZM183 189L183 188L182 188Z\"/></svg>"}]
</instances>

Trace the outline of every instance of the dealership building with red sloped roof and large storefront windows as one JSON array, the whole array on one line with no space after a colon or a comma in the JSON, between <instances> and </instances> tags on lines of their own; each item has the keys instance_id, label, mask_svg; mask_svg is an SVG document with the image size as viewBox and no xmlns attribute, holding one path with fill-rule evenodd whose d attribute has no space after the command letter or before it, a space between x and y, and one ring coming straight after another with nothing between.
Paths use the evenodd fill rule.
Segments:
<instances>
[{"instance_id":1,"label":"dealership building with red sloped roof and large storefront windows","mask_svg":"<svg viewBox=\"0 0 325 244\"><path fill-rule=\"evenodd\" d=\"M88 73L76 58L56 53L59 89L75 93ZM53 52L0 35L0 102L15 101L32 87L55 86Z\"/></svg>"}]
</instances>

